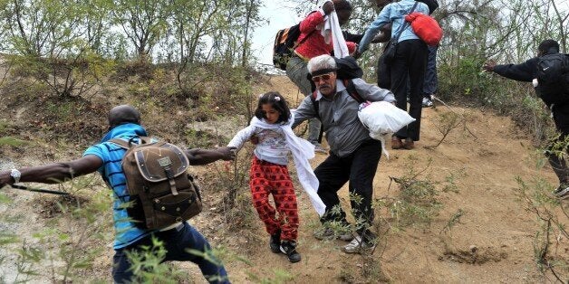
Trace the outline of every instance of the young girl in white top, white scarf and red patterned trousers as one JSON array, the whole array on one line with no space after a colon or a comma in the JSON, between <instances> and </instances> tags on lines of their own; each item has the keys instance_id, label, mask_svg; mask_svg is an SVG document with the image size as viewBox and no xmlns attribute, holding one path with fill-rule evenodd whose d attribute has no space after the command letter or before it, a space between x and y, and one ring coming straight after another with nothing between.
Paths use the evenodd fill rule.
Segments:
<instances>
[{"instance_id":1,"label":"young girl in white top, white scarf and red patterned trousers","mask_svg":"<svg viewBox=\"0 0 569 284\"><path fill-rule=\"evenodd\" d=\"M292 153L298 179L309 195L316 212L323 215L325 205L318 197L318 179L308 163L314 156L314 146L294 135L294 117L278 92L261 95L251 124L239 131L227 146L237 150L252 136L258 137L249 173L253 204L271 235L271 251L282 251L291 262L301 260L296 251L298 211L293 182L288 174L288 154ZM269 203L273 195L275 208ZM275 213L278 212L278 215Z\"/></svg>"}]
</instances>

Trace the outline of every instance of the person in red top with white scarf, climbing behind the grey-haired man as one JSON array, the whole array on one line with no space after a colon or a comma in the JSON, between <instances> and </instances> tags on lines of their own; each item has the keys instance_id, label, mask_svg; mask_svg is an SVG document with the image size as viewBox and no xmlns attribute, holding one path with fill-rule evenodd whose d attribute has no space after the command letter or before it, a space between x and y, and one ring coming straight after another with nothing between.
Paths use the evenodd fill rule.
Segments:
<instances>
[{"instance_id":1,"label":"person in red top with white scarf, climbing behind the grey-haired man","mask_svg":"<svg viewBox=\"0 0 569 284\"><path fill-rule=\"evenodd\" d=\"M300 35L298 36L298 46L294 49L293 56L286 64L286 75L300 89L304 96L312 94L311 82L308 80L308 61L318 55L332 54L333 42L326 43L322 35L324 17L336 11L340 25L348 23L352 15L352 5L346 0L333 0L324 3L321 9L308 14L300 24ZM348 45L348 52L352 53L356 49L356 43L362 35L344 33L344 38ZM318 142L320 136L321 123L318 118L308 121L308 138L314 146L314 151L325 152L325 149Z\"/></svg>"}]
</instances>

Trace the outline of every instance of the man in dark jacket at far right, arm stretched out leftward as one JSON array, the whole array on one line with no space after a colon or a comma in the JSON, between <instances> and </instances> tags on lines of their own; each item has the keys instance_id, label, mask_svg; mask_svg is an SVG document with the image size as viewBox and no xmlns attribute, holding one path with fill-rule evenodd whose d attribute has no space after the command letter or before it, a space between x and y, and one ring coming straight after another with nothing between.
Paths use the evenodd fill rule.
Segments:
<instances>
[{"instance_id":1,"label":"man in dark jacket at far right, arm stretched out leftward","mask_svg":"<svg viewBox=\"0 0 569 284\"><path fill-rule=\"evenodd\" d=\"M559 43L545 40L537 47L537 56L520 64L497 65L487 61L482 68L507 79L533 82L537 95L551 109L559 137L545 151L549 164L559 178L554 195L560 199L569 197L569 168L561 155L567 151L569 135L569 56L559 52ZM562 145L563 144L563 145ZM562 147L560 147L562 145Z\"/></svg>"}]
</instances>

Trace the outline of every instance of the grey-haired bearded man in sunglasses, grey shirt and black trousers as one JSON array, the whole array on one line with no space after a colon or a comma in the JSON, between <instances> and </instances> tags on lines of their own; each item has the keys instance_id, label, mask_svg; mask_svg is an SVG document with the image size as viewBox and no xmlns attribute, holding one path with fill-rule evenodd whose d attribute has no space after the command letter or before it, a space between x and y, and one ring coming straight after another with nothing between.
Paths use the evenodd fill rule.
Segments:
<instances>
[{"instance_id":1,"label":"grey-haired bearded man in sunglasses, grey shirt and black trousers","mask_svg":"<svg viewBox=\"0 0 569 284\"><path fill-rule=\"evenodd\" d=\"M368 84L361 78L342 80L338 78L337 63L330 55L313 57L307 64L316 88L315 98L306 97L294 112L293 128L310 118L319 118L330 154L316 167L314 174L320 183L318 195L326 205L321 218L323 230L317 232L318 239L338 238L351 241L342 248L347 253L358 253L373 248L376 239L371 232L373 209L373 177L381 157L381 142L370 137L358 118L359 99L369 101L385 100L394 102L390 90ZM352 93L351 93L352 92ZM315 105L317 104L317 106ZM342 210L337 192L346 182L352 195L351 205L354 213L357 236L346 232L349 223ZM334 232L334 227L344 230Z\"/></svg>"}]
</instances>

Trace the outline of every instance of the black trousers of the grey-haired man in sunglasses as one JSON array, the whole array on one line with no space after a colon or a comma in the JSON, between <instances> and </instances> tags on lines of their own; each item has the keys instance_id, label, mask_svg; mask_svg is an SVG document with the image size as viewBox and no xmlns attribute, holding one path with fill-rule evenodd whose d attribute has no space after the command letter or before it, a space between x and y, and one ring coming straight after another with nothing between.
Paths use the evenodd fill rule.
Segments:
<instances>
[{"instance_id":1,"label":"black trousers of the grey-haired man in sunglasses","mask_svg":"<svg viewBox=\"0 0 569 284\"><path fill-rule=\"evenodd\" d=\"M373 209L371 201L373 199L373 177L380 163L381 142L378 140L367 140L358 147L351 155L340 157L333 153L314 169L314 174L318 178L318 195L326 205L321 221L346 222L346 213L340 207L338 190L350 182L349 192L352 197L350 204L352 212L357 222L357 231L363 237L372 239L372 233L368 228L373 221ZM337 206L334 208L334 206Z\"/></svg>"}]
</instances>

